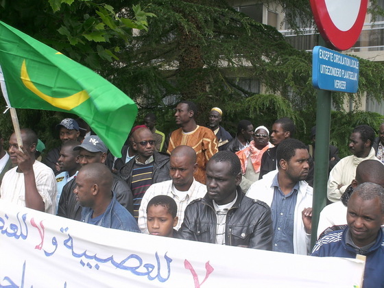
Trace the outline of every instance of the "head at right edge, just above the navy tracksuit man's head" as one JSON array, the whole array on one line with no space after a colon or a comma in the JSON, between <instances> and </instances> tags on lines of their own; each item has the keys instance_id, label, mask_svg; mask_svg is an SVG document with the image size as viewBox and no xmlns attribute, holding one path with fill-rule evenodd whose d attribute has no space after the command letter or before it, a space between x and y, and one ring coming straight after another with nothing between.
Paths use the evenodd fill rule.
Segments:
<instances>
[{"instance_id":1,"label":"head at right edge, just above the navy tracksuit man's head","mask_svg":"<svg viewBox=\"0 0 384 288\"><path fill-rule=\"evenodd\" d=\"M372 182L384 187L384 165L378 160L364 160L356 168L357 184Z\"/></svg>"}]
</instances>

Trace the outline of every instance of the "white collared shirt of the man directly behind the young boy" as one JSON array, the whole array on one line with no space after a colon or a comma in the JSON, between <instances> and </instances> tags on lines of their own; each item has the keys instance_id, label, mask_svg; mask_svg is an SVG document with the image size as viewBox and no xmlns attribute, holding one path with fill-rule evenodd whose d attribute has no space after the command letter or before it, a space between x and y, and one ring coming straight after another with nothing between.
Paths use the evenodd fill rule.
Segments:
<instances>
[{"instance_id":1,"label":"white collared shirt of the man directly behind the young boy","mask_svg":"<svg viewBox=\"0 0 384 288\"><path fill-rule=\"evenodd\" d=\"M157 195L168 195L175 200L178 205L178 216L179 221L178 224L174 227L178 230L184 220L184 211L187 208L188 204L193 200L202 198L206 194L206 186L200 182L197 182L193 179L191 187L189 187L188 191L184 192L184 197L180 197L179 193L176 192L176 189L172 183L172 180L159 182L152 184L151 187L145 192L143 199L141 200L141 206L139 209L139 219L138 224L141 232L148 234L147 229L147 205L149 200Z\"/></svg>"}]
</instances>

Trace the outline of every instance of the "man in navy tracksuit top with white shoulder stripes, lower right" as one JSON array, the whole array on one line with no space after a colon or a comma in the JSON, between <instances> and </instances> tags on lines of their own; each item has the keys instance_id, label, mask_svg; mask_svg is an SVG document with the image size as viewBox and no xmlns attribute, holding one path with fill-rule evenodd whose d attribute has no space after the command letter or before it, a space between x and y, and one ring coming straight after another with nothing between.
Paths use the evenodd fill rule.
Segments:
<instances>
[{"instance_id":1,"label":"man in navy tracksuit top with white shoulder stripes, lower right","mask_svg":"<svg viewBox=\"0 0 384 288\"><path fill-rule=\"evenodd\" d=\"M363 287L384 285L384 188L365 182L348 201L348 227L328 233L317 241L312 256L356 258L365 255Z\"/></svg>"}]
</instances>

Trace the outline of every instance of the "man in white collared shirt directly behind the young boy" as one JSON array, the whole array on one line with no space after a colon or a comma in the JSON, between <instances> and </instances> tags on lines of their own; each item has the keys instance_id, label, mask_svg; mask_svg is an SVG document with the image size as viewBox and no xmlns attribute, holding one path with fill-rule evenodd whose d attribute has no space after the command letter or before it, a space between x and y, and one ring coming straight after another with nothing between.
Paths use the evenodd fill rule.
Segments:
<instances>
[{"instance_id":1,"label":"man in white collared shirt directly behind the young boy","mask_svg":"<svg viewBox=\"0 0 384 288\"><path fill-rule=\"evenodd\" d=\"M192 147L181 145L173 149L169 160L169 176L172 180L152 184L141 200L138 219L141 232L148 233L147 204L157 195L168 195L175 200L178 205L177 217L180 219L175 229L180 228L188 204L206 194L206 186L193 178L196 169L196 153Z\"/></svg>"}]
</instances>

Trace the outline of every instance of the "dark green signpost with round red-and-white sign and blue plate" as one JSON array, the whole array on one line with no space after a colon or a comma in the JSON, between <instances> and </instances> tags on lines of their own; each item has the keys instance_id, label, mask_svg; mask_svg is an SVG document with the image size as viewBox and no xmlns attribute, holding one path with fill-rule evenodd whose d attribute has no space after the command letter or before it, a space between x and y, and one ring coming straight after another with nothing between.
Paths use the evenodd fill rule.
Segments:
<instances>
[{"instance_id":1,"label":"dark green signpost with round red-and-white sign and blue plate","mask_svg":"<svg viewBox=\"0 0 384 288\"><path fill-rule=\"evenodd\" d=\"M331 91L356 93L359 60L336 51L355 45L363 29L368 0L310 0L313 18L320 32L320 47L313 48L312 83L317 91L315 176L311 247L315 245L320 211L326 205L328 182L329 130L331 128ZM351 16L352 15L352 16ZM326 45L327 43L327 45ZM324 46L322 48L322 46Z\"/></svg>"}]
</instances>

